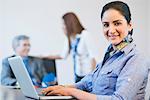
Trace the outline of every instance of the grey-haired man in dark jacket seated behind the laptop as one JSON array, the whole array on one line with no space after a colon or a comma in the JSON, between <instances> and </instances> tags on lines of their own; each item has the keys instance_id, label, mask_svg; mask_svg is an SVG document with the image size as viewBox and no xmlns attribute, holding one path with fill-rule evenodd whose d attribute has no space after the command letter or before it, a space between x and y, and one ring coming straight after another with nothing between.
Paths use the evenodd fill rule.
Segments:
<instances>
[{"instance_id":1,"label":"grey-haired man in dark jacket seated behind the laptop","mask_svg":"<svg viewBox=\"0 0 150 100\"><path fill-rule=\"evenodd\" d=\"M30 38L26 35L18 35L13 39L12 47L15 54L9 57L21 56L33 84L36 87L41 87L41 80L43 76L46 75L46 71L41 59L28 55L30 51ZM2 61L1 84L6 86L17 86L18 82L8 62L9 57Z\"/></svg>"}]
</instances>

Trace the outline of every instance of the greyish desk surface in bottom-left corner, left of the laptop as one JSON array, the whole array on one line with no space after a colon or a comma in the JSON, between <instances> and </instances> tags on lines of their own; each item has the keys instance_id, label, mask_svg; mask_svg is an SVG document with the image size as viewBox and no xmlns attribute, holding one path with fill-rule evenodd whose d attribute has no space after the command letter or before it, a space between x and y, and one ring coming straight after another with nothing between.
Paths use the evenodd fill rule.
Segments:
<instances>
[{"instance_id":1,"label":"greyish desk surface in bottom-left corner, left of the laptop","mask_svg":"<svg viewBox=\"0 0 150 100\"><path fill-rule=\"evenodd\" d=\"M11 89L0 86L0 100L33 100L26 98L20 89Z\"/></svg>"}]
</instances>

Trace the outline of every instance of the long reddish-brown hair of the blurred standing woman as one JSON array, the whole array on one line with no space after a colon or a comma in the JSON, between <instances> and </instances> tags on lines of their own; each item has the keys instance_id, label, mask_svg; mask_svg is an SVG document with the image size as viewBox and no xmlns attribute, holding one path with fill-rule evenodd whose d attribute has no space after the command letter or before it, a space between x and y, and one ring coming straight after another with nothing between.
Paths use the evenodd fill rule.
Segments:
<instances>
[{"instance_id":1,"label":"long reddish-brown hair of the blurred standing woman","mask_svg":"<svg viewBox=\"0 0 150 100\"><path fill-rule=\"evenodd\" d=\"M78 17L73 12L68 12L63 15L62 19L66 27L67 38L69 41L69 53L71 49L71 40L70 37L76 34L80 34L84 27L81 25Z\"/></svg>"}]
</instances>

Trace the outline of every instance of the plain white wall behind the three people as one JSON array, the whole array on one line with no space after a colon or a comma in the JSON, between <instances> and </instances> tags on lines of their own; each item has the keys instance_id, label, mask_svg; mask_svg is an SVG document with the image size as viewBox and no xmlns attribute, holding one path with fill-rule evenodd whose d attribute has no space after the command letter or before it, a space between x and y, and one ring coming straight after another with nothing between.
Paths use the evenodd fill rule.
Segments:
<instances>
[{"instance_id":1,"label":"plain white wall behind the three people","mask_svg":"<svg viewBox=\"0 0 150 100\"><path fill-rule=\"evenodd\" d=\"M95 48L98 47L97 60L101 59L107 42L102 33L100 12L108 1L112 0L1 0L0 61L13 53L11 40L18 34L31 37L31 55L61 52L65 38L61 16L67 11L75 12L94 36ZM148 0L123 1L127 1L131 8L135 42L143 53L149 53Z\"/></svg>"}]
</instances>

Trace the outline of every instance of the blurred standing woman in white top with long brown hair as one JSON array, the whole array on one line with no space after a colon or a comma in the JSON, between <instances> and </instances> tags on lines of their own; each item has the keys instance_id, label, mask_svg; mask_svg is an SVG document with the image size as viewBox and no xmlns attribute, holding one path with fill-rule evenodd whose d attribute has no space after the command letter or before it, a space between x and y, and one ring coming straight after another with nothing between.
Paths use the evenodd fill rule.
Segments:
<instances>
[{"instance_id":1,"label":"blurred standing woman in white top with long brown hair","mask_svg":"<svg viewBox=\"0 0 150 100\"><path fill-rule=\"evenodd\" d=\"M48 58L63 59L71 53L74 62L75 82L78 82L95 68L96 61L93 52L95 44L73 12L64 14L62 19L64 33L68 39L61 55L49 56Z\"/></svg>"}]
</instances>

